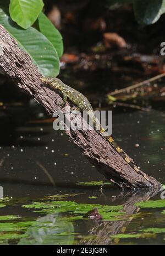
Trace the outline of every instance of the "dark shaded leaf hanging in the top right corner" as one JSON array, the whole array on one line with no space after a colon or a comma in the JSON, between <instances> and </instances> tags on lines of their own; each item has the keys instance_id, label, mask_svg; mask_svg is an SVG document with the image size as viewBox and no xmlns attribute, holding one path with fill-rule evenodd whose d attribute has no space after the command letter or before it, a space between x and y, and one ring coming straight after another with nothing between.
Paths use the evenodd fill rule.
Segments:
<instances>
[{"instance_id":1,"label":"dark shaded leaf hanging in the top right corner","mask_svg":"<svg viewBox=\"0 0 165 256\"><path fill-rule=\"evenodd\" d=\"M164 13L164 5L164 0L134 0L135 17L142 25L153 24Z\"/></svg>"}]
</instances>

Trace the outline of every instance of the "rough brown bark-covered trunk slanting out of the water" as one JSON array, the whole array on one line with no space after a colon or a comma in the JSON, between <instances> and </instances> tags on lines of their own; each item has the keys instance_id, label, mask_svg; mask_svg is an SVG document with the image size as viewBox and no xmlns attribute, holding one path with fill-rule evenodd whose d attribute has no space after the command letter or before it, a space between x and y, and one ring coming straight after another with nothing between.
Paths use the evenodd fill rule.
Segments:
<instances>
[{"instance_id":1,"label":"rough brown bark-covered trunk slanting out of the water","mask_svg":"<svg viewBox=\"0 0 165 256\"><path fill-rule=\"evenodd\" d=\"M62 98L57 92L44 85L29 55L20 50L17 42L0 25L0 69L11 77L23 92L28 93L40 103L49 114L59 109ZM70 103L67 102L69 106ZM64 111L64 109L62 109ZM67 130L70 139L83 150L83 153L100 173L122 188L160 187L153 177L149 181L136 173L111 145L95 130ZM154 184L154 185L153 185Z\"/></svg>"}]
</instances>

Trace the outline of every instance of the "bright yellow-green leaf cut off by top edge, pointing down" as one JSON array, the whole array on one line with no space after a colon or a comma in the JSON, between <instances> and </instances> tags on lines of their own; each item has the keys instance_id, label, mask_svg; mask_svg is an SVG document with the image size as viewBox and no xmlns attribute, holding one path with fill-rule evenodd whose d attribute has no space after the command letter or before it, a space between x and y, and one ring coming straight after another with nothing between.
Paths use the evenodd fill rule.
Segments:
<instances>
[{"instance_id":1,"label":"bright yellow-green leaf cut off by top edge, pointing down","mask_svg":"<svg viewBox=\"0 0 165 256\"><path fill-rule=\"evenodd\" d=\"M27 29L34 24L43 6L42 0L10 0L10 17L21 28Z\"/></svg>"}]
</instances>

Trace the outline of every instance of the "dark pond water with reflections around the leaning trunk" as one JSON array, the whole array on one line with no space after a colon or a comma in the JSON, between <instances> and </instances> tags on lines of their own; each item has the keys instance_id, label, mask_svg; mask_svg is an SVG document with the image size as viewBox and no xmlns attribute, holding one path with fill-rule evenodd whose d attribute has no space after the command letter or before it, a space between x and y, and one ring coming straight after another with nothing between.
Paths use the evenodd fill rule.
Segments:
<instances>
[{"instance_id":1,"label":"dark pond water with reflections around the leaning trunk","mask_svg":"<svg viewBox=\"0 0 165 256\"><path fill-rule=\"evenodd\" d=\"M69 75L64 73L64 79L67 76ZM85 79L87 80L86 77ZM19 111L18 107L15 112ZM134 205L149 199L160 200L160 194L124 192L111 185L103 187L103 191L100 191L100 185L76 185L76 182L100 181L104 177L69 142L64 132L53 130L52 122L43 122L43 119L38 122L31 122L30 119L28 122L21 122L25 115L26 109L23 108L19 125L14 128L10 121L1 121L3 134L1 133L0 186L3 187L3 197L9 197L10 200L4 201L6 206L0 208L0 217L21 216L19 221L0 220L1 244L65 244L66 241L68 244L165 243L165 205L156 208ZM42 109L37 115L42 116ZM17 114L16 116L18 118ZM113 114L113 137L142 170L161 183L165 182L164 120L163 110L116 111ZM74 216L73 209L67 213L58 212L57 209L51 213L41 213L34 208L23 207L32 202L52 202L48 196L53 195L65 195L54 197L54 201L75 201L78 203L75 208L79 208L82 203L123 205L124 213L121 218L115 217L115 220L108 221L89 218L72 220L70 217ZM82 214L80 213L81 217ZM1 229L1 222L18 224L20 221L33 222L32 226L21 230L21 234L26 234L26 239L4 239L4 234L20 234L20 231L5 231ZM158 229L146 232L149 228ZM117 234L128 234L128 237L113 237Z\"/></svg>"}]
</instances>

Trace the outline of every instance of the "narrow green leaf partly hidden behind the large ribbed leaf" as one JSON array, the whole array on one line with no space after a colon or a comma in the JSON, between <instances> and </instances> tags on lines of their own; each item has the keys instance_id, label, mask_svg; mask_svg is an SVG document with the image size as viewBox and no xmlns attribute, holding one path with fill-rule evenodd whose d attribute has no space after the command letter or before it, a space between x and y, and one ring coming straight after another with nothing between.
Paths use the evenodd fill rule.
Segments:
<instances>
[{"instance_id":1,"label":"narrow green leaf partly hidden behind the large ribbed leaf","mask_svg":"<svg viewBox=\"0 0 165 256\"><path fill-rule=\"evenodd\" d=\"M51 41L57 51L59 58L63 55L63 38L61 33L54 27L44 13L38 16L38 27L40 32Z\"/></svg>"}]
</instances>

